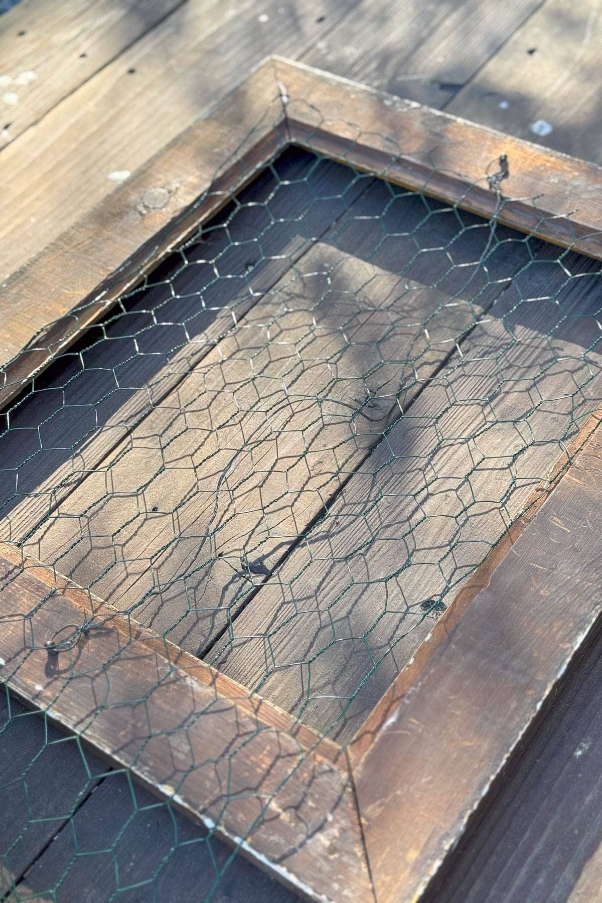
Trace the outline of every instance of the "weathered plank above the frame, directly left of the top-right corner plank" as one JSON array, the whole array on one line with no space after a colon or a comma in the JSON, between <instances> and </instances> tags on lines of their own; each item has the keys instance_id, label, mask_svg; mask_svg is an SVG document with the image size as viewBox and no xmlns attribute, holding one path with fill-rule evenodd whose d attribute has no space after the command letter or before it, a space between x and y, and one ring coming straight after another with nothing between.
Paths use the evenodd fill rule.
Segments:
<instances>
[{"instance_id":1,"label":"weathered plank above the frame, directly left of the top-right corner plank","mask_svg":"<svg viewBox=\"0 0 602 903\"><path fill-rule=\"evenodd\" d=\"M541 5L542 0L511 0L503 7L483 3L476 11L471 0L369 0L299 59L370 88L444 107Z\"/></svg>"}]
</instances>

